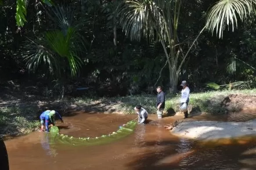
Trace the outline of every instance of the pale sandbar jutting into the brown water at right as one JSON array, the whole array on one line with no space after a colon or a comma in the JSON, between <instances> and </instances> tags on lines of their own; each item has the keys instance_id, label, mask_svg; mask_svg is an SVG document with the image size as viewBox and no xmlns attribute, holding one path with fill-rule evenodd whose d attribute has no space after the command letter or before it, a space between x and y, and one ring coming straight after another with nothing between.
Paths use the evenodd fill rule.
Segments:
<instances>
[{"instance_id":1,"label":"pale sandbar jutting into the brown water at right","mask_svg":"<svg viewBox=\"0 0 256 170\"><path fill-rule=\"evenodd\" d=\"M198 140L256 135L256 119L246 122L186 121L174 127L171 133Z\"/></svg>"}]
</instances>

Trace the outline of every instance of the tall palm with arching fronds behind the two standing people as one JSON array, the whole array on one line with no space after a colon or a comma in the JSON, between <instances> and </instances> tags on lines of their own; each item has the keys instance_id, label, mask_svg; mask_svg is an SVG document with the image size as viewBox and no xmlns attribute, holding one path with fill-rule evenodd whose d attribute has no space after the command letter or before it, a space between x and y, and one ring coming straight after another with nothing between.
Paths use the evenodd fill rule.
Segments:
<instances>
[{"instance_id":1,"label":"tall palm with arching fronds behind the two standing people","mask_svg":"<svg viewBox=\"0 0 256 170\"><path fill-rule=\"evenodd\" d=\"M253 18L256 0L220 0L208 13L206 25L191 44L187 53L178 42L178 26L182 0L125 0L120 8L123 30L131 40L142 38L159 41L162 44L166 64L169 66L171 91L177 90L177 83L184 61L199 35L207 28L222 37L226 25L237 25L241 21ZM252 12L253 11L253 12ZM252 21L252 20L250 20ZM166 65L165 64L165 65Z\"/></svg>"}]
</instances>

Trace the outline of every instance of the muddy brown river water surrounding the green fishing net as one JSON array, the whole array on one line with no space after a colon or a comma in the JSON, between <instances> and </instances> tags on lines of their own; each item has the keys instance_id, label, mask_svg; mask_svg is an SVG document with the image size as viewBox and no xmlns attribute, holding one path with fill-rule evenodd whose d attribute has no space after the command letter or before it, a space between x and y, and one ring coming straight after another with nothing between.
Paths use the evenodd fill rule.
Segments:
<instances>
[{"instance_id":1,"label":"muddy brown river water surrounding the green fishing net","mask_svg":"<svg viewBox=\"0 0 256 170\"><path fill-rule=\"evenodd\" d=\"M101 136L116 131L136 115L79 113L64 117L61 133ZM45 135L29 135L5 141L10 170L255 170L256 139L228 144L202 145L177 138L162 126L182 116L164 117L138 125L132 135L116 142L79 146L47 145ZM227 117L195 115L187 120L227 120ZM64 128L65 127L65 128ZM70 128L68 128L70 127Z\"/></svg>"}]
</instances>

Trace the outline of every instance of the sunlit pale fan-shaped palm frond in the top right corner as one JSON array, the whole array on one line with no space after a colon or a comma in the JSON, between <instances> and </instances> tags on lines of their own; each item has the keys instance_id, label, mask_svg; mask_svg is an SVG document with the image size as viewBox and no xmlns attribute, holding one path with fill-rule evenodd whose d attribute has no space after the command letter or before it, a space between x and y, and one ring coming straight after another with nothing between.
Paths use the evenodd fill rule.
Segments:
<instances>
[{"instance_id":1,"label":"sunlit pale fan-shaped palm frond in the top right corner","mask_svg":"<svg viewBox=\"0 0 256 170\"><path fill-rule=\"evenodd\" d=\"M210 32L216 30L219 38L223 37L226 26L232 31L238 26L238 19L245 21L256 9L256 0L219 0L209 10L206 26Z\"/></svg>"}]
</instances>

